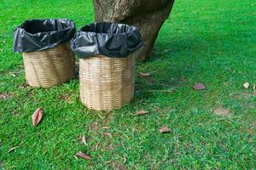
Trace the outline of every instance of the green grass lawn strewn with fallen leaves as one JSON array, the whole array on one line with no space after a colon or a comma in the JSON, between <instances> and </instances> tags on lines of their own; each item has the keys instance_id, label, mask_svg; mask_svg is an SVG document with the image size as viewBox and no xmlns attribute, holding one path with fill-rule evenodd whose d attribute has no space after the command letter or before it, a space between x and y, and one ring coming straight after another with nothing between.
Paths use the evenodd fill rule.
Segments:
<instances>
[{"instance_id":1,"label":"green grass lawn strewn with fallen leaves","mask_svg":"<svg viewBox=\"0 0 256 170\"><path fill-rule=\"evenodd\" d=\"M79 102L77 79L26 86L22 57L12 53L23 20L70 18L79 28L93 22L92 2L1 0L0 169L255 169L255 8L255 0L177 0L154 55L137 64L136 99L104 113ZM193 89L198 82L207 89ZM38 107L44 119L32 127ZM214 114L217 107L229 116ZM135 116L140 110L149 114ZM172 133L159 133L163 126ZM76 159L79 150L92 160Z\"/></svg>"}]
</instances>

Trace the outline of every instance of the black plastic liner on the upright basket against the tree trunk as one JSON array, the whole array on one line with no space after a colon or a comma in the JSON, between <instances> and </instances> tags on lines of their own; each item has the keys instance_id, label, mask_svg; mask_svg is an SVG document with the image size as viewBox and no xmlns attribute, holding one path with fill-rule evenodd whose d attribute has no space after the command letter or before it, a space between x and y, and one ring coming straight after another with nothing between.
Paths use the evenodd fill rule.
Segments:
<instances>
[{"instance_id":1,"label":"black plastic liner on the upright basket against the tree trunk","mask_svg":"<svg viewBox=\"0 0 256 170\"><path fill-rule=\"evenodd\" d=\"M102 54L125 57L143 46L140 32L134 26L100 22L84 26L72 40L72 49L80 58Z\"/></svg>"}]
</instances>

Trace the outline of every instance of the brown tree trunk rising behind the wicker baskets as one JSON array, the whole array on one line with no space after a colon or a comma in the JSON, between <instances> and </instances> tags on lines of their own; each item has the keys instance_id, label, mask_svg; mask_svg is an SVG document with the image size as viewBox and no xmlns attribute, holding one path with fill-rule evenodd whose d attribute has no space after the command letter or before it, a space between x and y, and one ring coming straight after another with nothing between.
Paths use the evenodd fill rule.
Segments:
<instances>
[{"instance_id":1,"label":"brown tree trunk rising behind the wicker baskets","mask_svg":"<svg viewBox=\"0 0 256 170\"><path fill-rule=\"evenodd\" d=\"M144 61L152 52L173 3L174 0L94 0L96 22L110 21L137 26L145 46L135 55L138 60Z\"/></svg>"}]
</instances>

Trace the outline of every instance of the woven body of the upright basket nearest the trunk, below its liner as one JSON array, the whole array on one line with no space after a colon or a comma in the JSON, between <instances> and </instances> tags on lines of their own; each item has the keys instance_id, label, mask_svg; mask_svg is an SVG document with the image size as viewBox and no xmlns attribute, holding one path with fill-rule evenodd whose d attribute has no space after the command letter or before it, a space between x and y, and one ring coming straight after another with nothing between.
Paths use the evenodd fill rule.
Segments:
<instances>
[{"instance_id":1,"label":"woven body of the upright basket nearest the trunk, below its liner","mask_svg":"<svg viewBox=\"0 0 256 170\"><path fill-rule=\"evenodd\" d=\"M79 59L80 98L96 111L119 109L134 96L135 58L95 55Z\"/></svg>"}]
</instances>

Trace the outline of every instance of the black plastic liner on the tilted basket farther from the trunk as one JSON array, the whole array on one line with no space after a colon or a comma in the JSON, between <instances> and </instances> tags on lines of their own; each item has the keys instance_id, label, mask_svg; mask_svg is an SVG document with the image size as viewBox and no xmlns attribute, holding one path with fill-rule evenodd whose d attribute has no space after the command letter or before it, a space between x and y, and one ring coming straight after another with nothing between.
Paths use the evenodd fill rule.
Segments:
<instances>
[{"instance_id":1,"label":"black plastic liner on the tilted basket farther from the trunk","mask_svg":"<svg viewBox=\"0 0 256 170\"><path fill-rule=\"evenodd\" d=\"M72 20L26 20L15 28L14 51L21 53L54 48L61 42L70 41L75 32Z\"/></svg>"}]
</instances>

